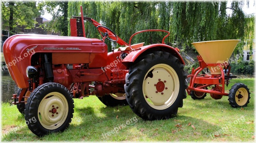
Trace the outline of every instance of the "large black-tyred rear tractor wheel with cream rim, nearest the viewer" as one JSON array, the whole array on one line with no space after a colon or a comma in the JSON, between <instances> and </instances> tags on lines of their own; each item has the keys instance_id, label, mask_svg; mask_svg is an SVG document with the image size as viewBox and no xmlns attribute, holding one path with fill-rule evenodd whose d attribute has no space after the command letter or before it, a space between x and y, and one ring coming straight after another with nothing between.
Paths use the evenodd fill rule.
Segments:
<instances>
[{"instance_id":1,"label":"large black-tyred rear tractor wheel with cream rim, nearest the viewer","mask_svg":"<svg viewBox=\"0 0 256 143\"><path fill-rule=\"evenodd\" d=\"M130 66L124 85L132 111L144 120L168 119L176 115L187 97L183 65L167 52L141 56Z\"/></svg>"}]
</instances>

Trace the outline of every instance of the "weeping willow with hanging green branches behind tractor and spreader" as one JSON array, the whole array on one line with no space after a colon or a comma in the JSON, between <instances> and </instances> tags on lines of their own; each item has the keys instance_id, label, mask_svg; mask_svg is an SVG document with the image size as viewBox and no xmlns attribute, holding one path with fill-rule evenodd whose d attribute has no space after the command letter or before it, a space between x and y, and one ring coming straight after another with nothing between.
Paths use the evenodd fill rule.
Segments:
<instances>
[{"instance_id":1,"label":"weeping willow with hanging green branches behind tractor and spreader","mask_svg":"<svg viewBox=\"0 0 256 143\"><path fill-rule=\"evenodd\" d=\"M252 42L254 39L254 16L244 14L243 1L232 1L229 7L223 1L70 1L68 17L79 16L80 5L83 6L84 16L107 26L126 42L137 31L163 29L171 33L165 43L178 44L185 50L196 41L240 39L242 42L235 49L237 53L243 50L245 40ZM227 15L227 9L232 11L230 16ZM89 38L101 38L89 22L85 22L85 33ZM141 33L133 38L132 43L161 43L165 35L162 32ZM118 47L116 43L106 43L109 51L112 47Z\"/></svg>"}]
</instances>

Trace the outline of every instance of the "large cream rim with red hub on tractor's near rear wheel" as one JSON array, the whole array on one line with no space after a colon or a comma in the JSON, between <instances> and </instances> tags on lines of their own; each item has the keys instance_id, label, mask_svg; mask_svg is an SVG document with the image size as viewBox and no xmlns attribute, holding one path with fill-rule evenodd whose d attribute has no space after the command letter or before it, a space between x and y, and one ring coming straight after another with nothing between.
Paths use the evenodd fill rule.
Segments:
<instances>
[{"instance_id":1,"label":"large cream rim with red hub on tractor's near rear wheel","mask_svg":"<svg viewBox=\"0 0 256 143\"><path fill-rule=\"evenodd\" d=\"M144 77L142 91L149 106L163 110L172 106L178 97L180 81L175 70L167 64L156 64Z\"/></svg>"}]
</instances>

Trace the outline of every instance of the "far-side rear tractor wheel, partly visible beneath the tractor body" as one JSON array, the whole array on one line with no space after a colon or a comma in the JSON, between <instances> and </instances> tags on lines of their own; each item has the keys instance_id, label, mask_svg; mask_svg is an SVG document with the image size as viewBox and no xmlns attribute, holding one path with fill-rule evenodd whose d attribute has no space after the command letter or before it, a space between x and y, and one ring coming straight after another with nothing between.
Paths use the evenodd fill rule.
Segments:
<instances>
[{"instance_id":1,"label":"far-side rear tractor wheel, partly visible beneath the tractor body","mask_svg":"<svg viewBox=\"0 0 256 143\"><path fill-rule=\"evenodd\" d=\"M127 101L125 100L125 94L122 93L109 94L98 98L103 104L109 107L128 105Z\"/></svg>"}]
</instances>

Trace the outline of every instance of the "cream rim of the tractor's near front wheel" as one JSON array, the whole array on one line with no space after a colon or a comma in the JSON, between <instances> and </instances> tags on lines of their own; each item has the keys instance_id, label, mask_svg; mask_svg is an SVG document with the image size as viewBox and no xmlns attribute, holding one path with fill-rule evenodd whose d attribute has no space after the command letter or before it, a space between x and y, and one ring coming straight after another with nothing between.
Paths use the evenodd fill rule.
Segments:
<instances>
[{"instance_id":1,"label":"cream rim of the tractor's near front wheel","mask_svg":"<svg viewBox=\"0 0 256 143\"><path fill-rule=\"evenodd\" d=\"M68 101L59 92L44 96L38 107L38 120L45 129L59 128L68 116Z\"/></svg>"}]
</instances>

